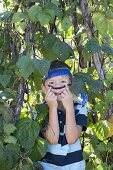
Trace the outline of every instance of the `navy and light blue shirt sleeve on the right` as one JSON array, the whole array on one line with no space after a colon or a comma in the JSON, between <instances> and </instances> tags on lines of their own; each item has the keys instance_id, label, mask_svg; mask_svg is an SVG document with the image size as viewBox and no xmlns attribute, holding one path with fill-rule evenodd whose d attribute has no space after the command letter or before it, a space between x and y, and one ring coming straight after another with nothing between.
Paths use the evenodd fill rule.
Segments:
<instances>
[{"instance_id":1,"label":"navy and light blue shirt sleeve on the right","mask_svg":"<svg viewBox=\"0 0 113 170\"><path fill-rule=\"evenodd\" d=\"M83 127L83 131L87 129L87 108L85 105L76 104L74 105L75 109L75 119L76 124L81 125Z\"/></svg>"}]
</instances>

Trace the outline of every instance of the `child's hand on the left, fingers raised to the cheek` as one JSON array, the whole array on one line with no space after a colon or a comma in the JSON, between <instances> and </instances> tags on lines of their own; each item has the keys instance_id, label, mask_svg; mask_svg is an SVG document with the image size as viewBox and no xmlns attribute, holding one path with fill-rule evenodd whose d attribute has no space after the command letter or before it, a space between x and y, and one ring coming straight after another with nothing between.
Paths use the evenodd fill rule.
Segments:
<instances>
[{"instance_id":1,"label":"child's hand on the left, fingers raised to the cheek","mask_svg":"<svg viewBox=\"0 0 113 170\"><path fill-rule=\"evenodd\" d=\"M51 87L48 89L46 96L45 96L45 101L48 104L48 107L50 109L58 106L57 103L57 96L51 91Z\"/></svg>"}]
</instances>

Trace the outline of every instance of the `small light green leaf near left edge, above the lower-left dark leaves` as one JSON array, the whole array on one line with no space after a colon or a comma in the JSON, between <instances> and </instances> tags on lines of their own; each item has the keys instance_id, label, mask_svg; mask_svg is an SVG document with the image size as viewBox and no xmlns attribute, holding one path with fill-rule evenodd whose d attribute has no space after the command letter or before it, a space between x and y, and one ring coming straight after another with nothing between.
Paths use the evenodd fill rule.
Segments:
<instances>
[{"instance_id":1,"label":"small light green leaf near left edge, above the lower-left dark leaves","mask_svg":"<svg viewBox=\"0 0 113 170\"><path fill-rule=\"evenodd\" d=\"M13 124L11 124L11 123L4 124L4 133L6 133L7 135L10 135L15 130L16 130L16 127Z\"/></svg>"}]
</instances>

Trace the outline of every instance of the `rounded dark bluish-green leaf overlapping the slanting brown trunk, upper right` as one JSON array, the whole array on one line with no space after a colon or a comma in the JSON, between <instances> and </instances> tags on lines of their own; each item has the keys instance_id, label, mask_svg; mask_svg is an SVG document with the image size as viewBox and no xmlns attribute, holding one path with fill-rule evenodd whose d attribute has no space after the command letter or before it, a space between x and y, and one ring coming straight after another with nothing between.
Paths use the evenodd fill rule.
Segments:
<instances>
[{"instance_id":1,"label":"rounded dark bluish-green leaf overlapping the slanting brown trunk, upper right","mask_svg":"<svg viewBox=\"0 0 113 170\"><path fill-rule=\"evenodd\" d=\"M89 40L85 45L85 49L92 52L93 54L100 52L101 46L99 45L98 39L93 38L93 39Z\"/></svg>"}]
</instances>

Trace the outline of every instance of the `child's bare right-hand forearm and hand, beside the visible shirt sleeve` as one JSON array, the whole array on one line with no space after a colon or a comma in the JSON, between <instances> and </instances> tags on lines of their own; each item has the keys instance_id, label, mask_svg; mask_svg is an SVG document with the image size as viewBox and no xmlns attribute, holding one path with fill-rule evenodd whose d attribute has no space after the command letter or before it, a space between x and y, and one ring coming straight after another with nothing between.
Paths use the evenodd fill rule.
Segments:
<instances>
[{"instance_id":1,"label":"child's bare right-hand forearm and hand, beside the visible shirt sleeve","mask_svg":"<svg viewBox=\"0 0 113 170\"><path fill-rule=\"evenodd\" d=\"M62 103L66 110L66 139L69 144L73 144L80 137L82 126L76 124L73 97L68 87L62 93Z\"/></svg>"}]
</instances>

